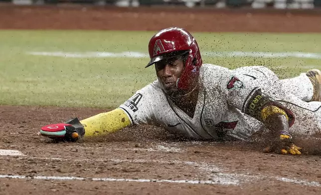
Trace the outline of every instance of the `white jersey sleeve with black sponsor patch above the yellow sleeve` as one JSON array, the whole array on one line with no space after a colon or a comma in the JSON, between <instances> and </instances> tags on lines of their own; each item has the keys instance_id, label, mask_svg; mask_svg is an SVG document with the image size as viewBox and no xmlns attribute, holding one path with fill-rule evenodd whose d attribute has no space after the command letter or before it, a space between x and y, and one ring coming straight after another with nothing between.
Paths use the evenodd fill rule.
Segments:
<instances>
[{"instance_id":1,"label":"white jersey sleeve with black sponsor patch above the yellow sleeve","mask_svg":"<svg viewBox=\"0 0 321 195\"><path fill-rule=\"evenodd\" d=\"M132 124L149 124L152 121L153 111L150 99L143 91L137 91L135 95L121 104L119 108L127 113Z\"/></svg>"}]
</instances>

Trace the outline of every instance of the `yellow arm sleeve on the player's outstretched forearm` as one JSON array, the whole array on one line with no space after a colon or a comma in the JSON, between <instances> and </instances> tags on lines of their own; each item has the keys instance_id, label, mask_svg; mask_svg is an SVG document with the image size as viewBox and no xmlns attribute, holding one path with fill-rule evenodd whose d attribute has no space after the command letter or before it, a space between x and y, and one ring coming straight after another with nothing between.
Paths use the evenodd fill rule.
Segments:
<instances>
[{"instance_id":1,"label":"yellow arm sleeve on the player's outstretched forearm","mask_svg":"<svg viewBox=\"0 0 321 195\"><path fill-rule=\"evenodd\" d=\"M80 122L85 128L85 137L113 133L131 125L130 118L120 108L91 116Z\"/></svg>"}]
</instances>

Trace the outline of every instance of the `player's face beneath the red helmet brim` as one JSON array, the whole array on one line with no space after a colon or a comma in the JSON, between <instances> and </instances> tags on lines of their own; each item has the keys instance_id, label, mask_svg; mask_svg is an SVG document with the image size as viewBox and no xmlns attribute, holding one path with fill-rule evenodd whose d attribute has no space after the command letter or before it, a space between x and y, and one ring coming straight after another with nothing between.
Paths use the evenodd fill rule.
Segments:
<instances>
[{"instance_id":1,"label":"player's face beneath the red helmet brim","mask_svg":"<svg viewBox=\"0 0 321 195\"><path fill-rule=\"evenodd\" d=\"M156 74L163 90L171 95L177 91L176 82L184 70L181 57L161 60L155 64Z\"/></svg>"}]
</instances>

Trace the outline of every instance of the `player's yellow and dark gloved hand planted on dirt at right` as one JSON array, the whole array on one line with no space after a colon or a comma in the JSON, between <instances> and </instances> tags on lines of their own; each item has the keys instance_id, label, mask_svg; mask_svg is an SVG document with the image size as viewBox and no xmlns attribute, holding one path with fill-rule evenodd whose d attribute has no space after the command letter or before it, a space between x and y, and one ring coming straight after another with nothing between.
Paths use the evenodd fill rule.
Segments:
<instances>
[{"instance_id":1,"label":"player's yellow and dark gloved hand planted on dirt at right","mask_svg":"<svg viewBox=\"0 0 321 195\"><path fill-rule=\"evenodd\" d=\"M302 148L296 146L292 142L292 136L286 131L280 133L280 137L277 138L271 145L264 149L263 152L276 152L278 154L292 154L300 155Z\"/></svg>"}]
</instances>

